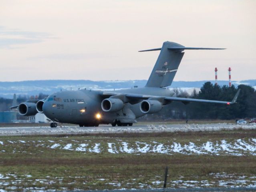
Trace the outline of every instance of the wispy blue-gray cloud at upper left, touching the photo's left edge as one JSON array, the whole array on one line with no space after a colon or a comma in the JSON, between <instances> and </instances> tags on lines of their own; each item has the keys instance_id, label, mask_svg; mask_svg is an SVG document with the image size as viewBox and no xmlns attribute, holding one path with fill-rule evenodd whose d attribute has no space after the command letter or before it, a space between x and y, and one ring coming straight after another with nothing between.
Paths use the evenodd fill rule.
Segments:
<instances>
[{"instance_id":1,"label":"wispy blue-gray cloud at upper left, touching the photo's left edge","mask_svg":"<svg viewBox=\"0 0 256 192\"><path fill-rule=\"evenodd\" d=\"M44 32L6 29L4 26L0 26L0 36L0 48L14 48L16 45L40 43L46 39L54 38L51 34Z\"/></svg>"}]
</instances>

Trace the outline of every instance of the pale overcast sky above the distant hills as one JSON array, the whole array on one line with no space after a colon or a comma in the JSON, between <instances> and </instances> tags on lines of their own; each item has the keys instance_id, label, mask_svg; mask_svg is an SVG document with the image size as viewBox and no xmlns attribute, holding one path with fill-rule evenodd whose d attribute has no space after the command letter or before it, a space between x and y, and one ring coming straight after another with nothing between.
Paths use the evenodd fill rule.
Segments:
<instances>
[{"instance_id":1,"label":"pale overcast sky above the distant hills","mask_svg":"<svg viewBox=\"0 0 256 192\"><path fill-rule=\"evenodd\" d=\"M164 41L175 81L256 79L255 0L1 0L0 81L148 79Z\"/></svg>"}]
</instances>

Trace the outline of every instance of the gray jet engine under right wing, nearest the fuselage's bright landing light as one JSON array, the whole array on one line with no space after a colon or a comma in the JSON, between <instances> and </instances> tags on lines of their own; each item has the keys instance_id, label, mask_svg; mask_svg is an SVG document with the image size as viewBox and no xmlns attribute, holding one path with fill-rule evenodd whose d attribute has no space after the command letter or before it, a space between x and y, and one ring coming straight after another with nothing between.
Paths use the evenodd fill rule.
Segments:
<instances>
[{"instance_id":1,"label":"gray jet engine under right wing, nearest the fuselage's bright landing light","mask_svg":"<svg viewBox=\"0 0 256 192\"><path fill-rule=\"evenodd\" d=\"M101 102L101 108L105 112L120 111L125 104L120 99L108 98Z\"/></svg>"}]
</instances>

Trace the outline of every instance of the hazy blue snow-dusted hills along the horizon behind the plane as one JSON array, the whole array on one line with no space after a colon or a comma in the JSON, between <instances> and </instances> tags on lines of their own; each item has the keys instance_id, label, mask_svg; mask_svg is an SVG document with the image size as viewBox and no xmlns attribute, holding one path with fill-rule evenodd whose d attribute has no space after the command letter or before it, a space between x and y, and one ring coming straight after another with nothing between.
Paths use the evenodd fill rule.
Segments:
<instances>
[{"instance_id":1,"label":"hazy blue snow-dusted hills along the horizon behind the plane","mask_svg":"<svg viewBox=\"0 0 256 192\"><path fill-rule=\"evenodd\" d=\"M204 81L174 81L169 88L200 88ZM214 84L214 81L210 81ZM17 95L38 95L39 93L52 94L60 90L77 90L78 88L94 90L125 89L133 86L143 87L147 80L128 81L90 81L90 80L34 80L19 82L0 82L0 97L12 98ZM228 85L228 81L218 81L219 85ZM232 81L232 84L247 84L256 88L256 80Z\"/></svg>"}]
</instances>

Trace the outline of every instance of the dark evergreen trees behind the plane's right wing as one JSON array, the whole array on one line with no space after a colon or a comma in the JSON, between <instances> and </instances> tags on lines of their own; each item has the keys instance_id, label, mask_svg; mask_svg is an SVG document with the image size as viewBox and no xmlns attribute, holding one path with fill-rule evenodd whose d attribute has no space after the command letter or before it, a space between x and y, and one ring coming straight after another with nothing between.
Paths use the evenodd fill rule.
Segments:
<instances>
[{"instance_id":1,"label":"dark evergreen trees behind the plane's right wing","mask_svg":"<svg viewBox=\"0 0 256 192\"><path fill-rule=\"evenodd\" d=\"M256 117L256 91L252 86L241 84L235 86L219 86L206 82L199 93L188 95L180 89L174 90L177 97L232 101L238 89L241 89L236 104L213 104L204 102L172 102L163 107L158 114L147 115L144 118L155 119L241 119Z\"/></svg>"}]
</instances>

